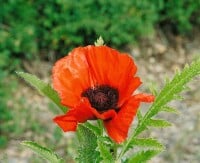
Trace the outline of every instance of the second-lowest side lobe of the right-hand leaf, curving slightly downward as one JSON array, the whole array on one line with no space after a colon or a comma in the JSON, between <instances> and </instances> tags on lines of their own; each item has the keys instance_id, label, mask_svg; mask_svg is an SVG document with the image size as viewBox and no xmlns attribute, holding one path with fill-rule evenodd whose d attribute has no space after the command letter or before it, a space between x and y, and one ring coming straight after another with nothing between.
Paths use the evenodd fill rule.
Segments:
<instances>
[{"instance_id":1,"label":"second-lowest side lobe of the right-hand leaf, curving slightly downward","mask_svg":"<svg viewBox=\"0 0 200 163\"><path fill-rule=\"evenodd\" d=\"M134 138L129 143L129 148L139 146L139 147L146 147L146 148L154 148L163 150L164 146L156 139L153 138Z\"/></svg>"}]
</instances>

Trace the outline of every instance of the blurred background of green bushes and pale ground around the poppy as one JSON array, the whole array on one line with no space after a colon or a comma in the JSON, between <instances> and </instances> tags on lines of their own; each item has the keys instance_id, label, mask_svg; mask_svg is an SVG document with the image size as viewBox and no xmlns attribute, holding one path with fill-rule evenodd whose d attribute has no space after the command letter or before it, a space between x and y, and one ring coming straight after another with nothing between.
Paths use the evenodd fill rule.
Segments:
<instances>
[{"instance_id":1,"label":"blurred background of green bushes and pale ground around the poppy","mask_svg":"<svg viewBox=\"0 0 200 163\"><path fill-rule=\"evenodd\" d=\"M68 162L76 150L74 137L52 122L60 112L15 71L50 83L57 59L101 35L134 57L140 90L148 92L151 84L160 89L166 76L200 57L199 9L197 0L1 0L0 162L44 162L20 146L22 140L49 146ZM160 115L174 126L147 133L166 145L153 163L200 162L199 78L189 86L185 100L172 103L180 115Z\"/></svg>"}]
</instances>

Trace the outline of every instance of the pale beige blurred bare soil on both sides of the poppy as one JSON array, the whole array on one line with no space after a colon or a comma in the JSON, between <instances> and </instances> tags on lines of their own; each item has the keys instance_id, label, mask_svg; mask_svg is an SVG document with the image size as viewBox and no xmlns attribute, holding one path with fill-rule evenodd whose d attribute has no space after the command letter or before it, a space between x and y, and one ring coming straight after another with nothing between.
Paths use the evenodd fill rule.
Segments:
<instances>
[{"instance_id":1,"label":"pale beige blurred bare soil on both sides of the poppy","mask_svg":"<svg viewBox=\"0 0 200 163\"><path fill-rule=\"evenodd\" d=\"M148 84L153 83L161 88L166 76L172 78L176 69L182 69L186 63L191 63L197 57L200 57L200 35L194 38L184 38L180 36L166 37L162 32L157 33L157 37L141 40L140 45L131 47L131 55L138 65L138 76L142 78L143 86L140 91L148 92ZM24 61L26 71L36 74L40 78L50 82L50 72L52 68L48 62ZM190 82L190 91L183 94L183 101L176 101L171 105L177 108L180 115L162 114L161 117L168 119L174 125L164 129L151 130L150 136L157 137L166 146L166 151L149 161L150 163L198 163L200 160L200 84L196 78ZM39 119L39 122L47 126L48 133L45 138L51 137L52 126L51 119L54 114L49 111L49 101L38 95L36 91L28 87L20 80L19 91L16 97L26 97L26 105L32 111L33 116ZM144 107L144 106L142 106ZM33 138L31 130L26 131L22 138ZM67 135L65 135L67 137ZM22 139L13 138L5 150L1 151L0 162L9 163L27 163L31 157L35 157L29 150L19 147L19 141ZM17 140L16 140L17 139ZM42 139L36 139L41 140ZM33 161L34 162L34 161ZM42 161L41 161L42 162Z\"/></svg>"}]
</instances>

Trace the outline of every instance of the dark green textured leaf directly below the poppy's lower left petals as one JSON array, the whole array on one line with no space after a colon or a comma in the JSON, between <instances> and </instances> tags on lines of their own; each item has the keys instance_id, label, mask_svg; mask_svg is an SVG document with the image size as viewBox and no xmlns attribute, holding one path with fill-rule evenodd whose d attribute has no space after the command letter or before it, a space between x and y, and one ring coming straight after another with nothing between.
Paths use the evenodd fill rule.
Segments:
<instances>
[{"instance_id":1,"label":"dark green textured leaf directly below the poppy's lower left petals","mask_svg":"<svg viewBox=\"0 0 200 163\"><path fill-rule=\"evenodd\" d=\"M79 124L77 136L79 140L79 147L78 157L76 160L79 163L100 162L100 153L96 150L98 146L96 134L83 124Z\"/></svg>"}]
</instances>

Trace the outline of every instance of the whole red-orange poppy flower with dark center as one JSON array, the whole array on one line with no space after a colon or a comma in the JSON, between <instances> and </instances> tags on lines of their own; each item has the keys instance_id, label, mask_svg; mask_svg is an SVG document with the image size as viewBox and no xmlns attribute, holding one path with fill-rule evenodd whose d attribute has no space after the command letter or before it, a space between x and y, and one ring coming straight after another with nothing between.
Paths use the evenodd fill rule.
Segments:
<instances>
[{"instance_id":1,"label":"whole red-orange poppy flower with dark center","mask_svg":"<svg viewBox=\"0 0 200 163\"><path fill-rule=\"evenodd\" d=\"M108 135L123 142L140 102L154 100L152 95L133 95L141 84L136 70L129 55L107 46L75 48L53 68L53 87L69 107L54 122L75 131L78 123L102 119Z\"/></svg>"}]
</instances>

